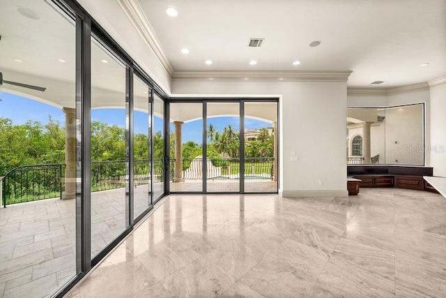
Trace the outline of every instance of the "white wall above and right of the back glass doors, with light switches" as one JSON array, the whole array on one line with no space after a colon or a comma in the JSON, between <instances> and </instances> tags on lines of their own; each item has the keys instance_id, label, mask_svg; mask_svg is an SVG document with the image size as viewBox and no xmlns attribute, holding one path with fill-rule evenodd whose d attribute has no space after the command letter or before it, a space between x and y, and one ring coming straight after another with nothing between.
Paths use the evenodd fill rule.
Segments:
<instances>
[{"instance_id":1,"label":"white wall above and right of the back glass doors, with light switches","mask_svg":"<svg viewBox=\"0 0 446 298\"><path fill-rule=\"evenodd\" d=\"M174 96L280 96L279 193L346 195L346 82L174 81L171 87ZM290 161L291 151L299 161Z\"/></svg>"}]
</instances>

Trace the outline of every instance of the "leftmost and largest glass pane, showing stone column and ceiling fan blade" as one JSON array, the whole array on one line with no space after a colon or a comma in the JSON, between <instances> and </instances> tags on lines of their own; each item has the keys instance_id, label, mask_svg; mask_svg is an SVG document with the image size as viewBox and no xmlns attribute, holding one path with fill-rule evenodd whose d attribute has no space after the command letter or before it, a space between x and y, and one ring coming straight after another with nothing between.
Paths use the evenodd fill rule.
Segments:
<instances>
[{"instance_id":1,"label":"leftmost and largest glass pane, showing stone column and ceiling fan blade","mask_svg":"<svg viewBox=\"0 0 446 298\"><path fill-rule=\"evenodd\" d=\"M75 23L47 1L0 7L0 296L46 297L76 275Z\"/></svg>"}]
</instances>

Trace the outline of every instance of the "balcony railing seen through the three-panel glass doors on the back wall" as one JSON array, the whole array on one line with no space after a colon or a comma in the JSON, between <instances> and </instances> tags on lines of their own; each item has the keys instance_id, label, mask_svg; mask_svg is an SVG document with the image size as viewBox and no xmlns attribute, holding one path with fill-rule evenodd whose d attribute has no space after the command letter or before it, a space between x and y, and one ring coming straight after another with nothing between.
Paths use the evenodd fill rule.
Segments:
<instances>
[{"instance_id":1,"label":"balcony railing seen through the three-panel glass doors on the back wall","mask_svg":"<svg viewBox=\"0 0 446 298\"><path fill-rule=\"evenodd\" d=\"M272 179L274 158L245 158L245 179ZM183 158L183 179L203 179L203 158ZM208 179L240 179L240 158L208 158ZM173 171L171 171L173 172Z\"/></svg>"}]
</instances>

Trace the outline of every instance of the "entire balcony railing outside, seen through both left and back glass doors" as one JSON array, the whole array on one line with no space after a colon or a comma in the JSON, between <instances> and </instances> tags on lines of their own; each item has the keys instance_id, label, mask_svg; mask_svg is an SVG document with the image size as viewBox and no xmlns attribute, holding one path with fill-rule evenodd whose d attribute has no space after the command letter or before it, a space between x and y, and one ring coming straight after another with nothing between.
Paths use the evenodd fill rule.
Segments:
<instances>
[{"instance_id":1,"label":"entire balcony railing outside, seen through both left and back glass doors","mask_svg":"<svg viewBox=\"0 0 446 298\"><path fill-rule=\"evenodd\" d=\"M169 160L169 180L174 179L175 159ZM183 179L203 179L203 158L183 158ZM245 179L272 179L274 158L245 158ZM91 163L91 191L123 188L128 182L125 161ZM163 160L153 161L153 177L148 160L133 163L134 185L164 181ZM239 158L208 158L208 179L240 179ZM65 165L23 165L1 178L0 196L3 206L49 198L62 198L65 191Z\"/></svg>"}]
</instances>

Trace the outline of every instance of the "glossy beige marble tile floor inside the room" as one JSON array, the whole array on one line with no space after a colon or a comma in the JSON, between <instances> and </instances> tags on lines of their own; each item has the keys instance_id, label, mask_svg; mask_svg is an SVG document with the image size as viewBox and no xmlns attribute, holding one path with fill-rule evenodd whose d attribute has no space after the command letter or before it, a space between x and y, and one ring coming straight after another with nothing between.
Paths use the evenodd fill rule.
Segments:
<instances>
[{"instance_id":1,"label":"glossy beige marble tile floor inside the room","mask_svg":"<svg viewBox=\"0 0 446 298\"><path fill-rule=\"evenodd\" d=\"M446 199L171 195L66 297L444 297Z\"/></svg>"}]
</instances>

